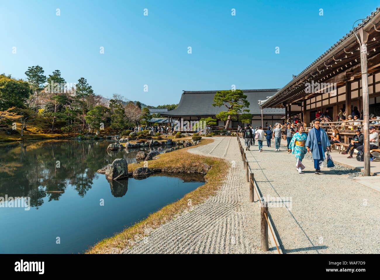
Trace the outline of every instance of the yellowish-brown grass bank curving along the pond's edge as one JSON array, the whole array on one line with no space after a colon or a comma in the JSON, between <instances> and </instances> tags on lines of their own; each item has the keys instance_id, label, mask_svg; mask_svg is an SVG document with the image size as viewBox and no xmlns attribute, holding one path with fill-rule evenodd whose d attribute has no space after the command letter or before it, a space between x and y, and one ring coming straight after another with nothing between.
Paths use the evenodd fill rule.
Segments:
<instances>
[{"instance_id":1,"label":"yellowish-brown grass bank curving along the pond's edge","mask_svg":"<svg viewBox=\"0 0 380 280\"><path fill-rule=\"evenodd\" d=\"M212 139L203 139L198 144L205 145L213 142ZM171 168L179 172L187 172L188 170L199 170L203 168L203 164L211 165L211 169L205 175L206 183L192 192L186 194L182 199L168 204L155 213L150 214L145 220L142 220L135 225L124 229L122 232L114 235L113 237L104 239L89 248L86 253L88 254L106 254L106 253L120 253L125 247L132 247L136 240L143 238L153 230L158 228L163 223L170 221L175 215L183 212L188 208L188 199L192 200L192 205L200 204L208 197L215 194L215 192L222 186L226 178L226 170L228 163L223 159L215 157L199 156L196 154L188 153L188 149L183 148L170 153L160 154L159 159L149 161L149 168L165 169ZM180 159L180 160L179 160ZM143 166L144 163L129 164L128 171L131 172L138 167Z\"/></svg>"}]
</instances>

